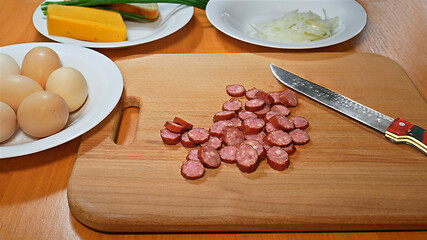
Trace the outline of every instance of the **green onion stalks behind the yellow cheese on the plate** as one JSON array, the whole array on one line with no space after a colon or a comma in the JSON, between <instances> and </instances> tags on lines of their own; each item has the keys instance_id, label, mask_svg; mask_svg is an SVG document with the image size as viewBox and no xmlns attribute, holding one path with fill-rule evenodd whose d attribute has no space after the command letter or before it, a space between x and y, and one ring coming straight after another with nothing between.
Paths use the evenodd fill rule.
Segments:
<instances>
[{"instance_id":1,"label":"green onion stalks behind the yellow cheese on the plate","mask_svg":"<svg viewBox=\"0 0 427 240\"><path fill-rule=\"evenodd\" d=\"M124 4L124 3L175 3L175 4L183 4L188 6L193 6L200 9L206 9L206 5L209 0L69 0L62 2L43 2L41 6L41 10L44 15L47 15L47 6L49 4L58 4L58 5L67 5L67 6L79 6L79 7L94 7L94 8L102 8L102 5L109 4ZM111 10L111 9L109 9ZM147 18L141 18L136 14L129 14L125 12L118 11L122 14L123 17L131 18L134 20L152 20Z\"/></svg>"}]
</instances>

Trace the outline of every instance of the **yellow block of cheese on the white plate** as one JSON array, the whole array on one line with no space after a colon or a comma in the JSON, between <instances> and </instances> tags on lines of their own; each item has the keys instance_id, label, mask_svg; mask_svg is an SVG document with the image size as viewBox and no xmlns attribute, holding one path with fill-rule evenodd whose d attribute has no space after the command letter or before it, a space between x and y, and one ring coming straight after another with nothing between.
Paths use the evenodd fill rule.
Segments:
<instances>
[{"instance_id":1,"label":"yellow block of cheese on the white plate","mask_svg":"<svg viewBox=\"0 0 427 240\"><path fill-rule=\"evenodd\" d=\"M58 4L47 7L47 29L50 35L91 42L126 41L127 35L117 12Z\"/></svg>"}]
</instances>

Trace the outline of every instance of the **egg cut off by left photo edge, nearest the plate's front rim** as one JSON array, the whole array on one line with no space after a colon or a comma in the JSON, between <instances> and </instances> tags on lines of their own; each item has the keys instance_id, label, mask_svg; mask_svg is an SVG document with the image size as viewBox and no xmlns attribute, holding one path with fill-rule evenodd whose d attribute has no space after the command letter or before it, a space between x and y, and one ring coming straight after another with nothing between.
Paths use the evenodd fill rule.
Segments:
<instances>
[{"instance_id":1,"label":"egg cut off by left photo edge, nearest the plate's front rim","mask_svg":"<svg viewBox=\"0 0 427 240\"><path fill-rule=\"evenodd\" d=\"M9 139L16 130L16 114L6 103L0 102L0 142Z\"/></svg>"}]
</instances>

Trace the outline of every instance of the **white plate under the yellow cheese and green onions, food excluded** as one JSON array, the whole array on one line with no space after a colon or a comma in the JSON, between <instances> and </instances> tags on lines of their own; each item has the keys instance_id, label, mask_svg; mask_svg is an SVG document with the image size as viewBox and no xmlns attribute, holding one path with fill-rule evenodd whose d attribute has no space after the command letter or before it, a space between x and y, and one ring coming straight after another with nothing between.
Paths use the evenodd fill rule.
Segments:
<instances>
[{"instance_id":1,"label":"white plate under the yellow cheese and green onions, food excluded","mask_svg":"<svg viewBox=\"0 0 427 240\"><path fill-rule=\"evenodd\" d=\"M128 30L128 40L123 42L88 42L49 35L47 31L47 18L40 10L40 6L34 11L33 25L42 35L57 42L90 48L126 47L151 42L178 31L190 21L194 13L194 8L178 4L159 3L159 12L159 19L154 22L138 23L125 21Z\"/></svg>"}]
</instances>

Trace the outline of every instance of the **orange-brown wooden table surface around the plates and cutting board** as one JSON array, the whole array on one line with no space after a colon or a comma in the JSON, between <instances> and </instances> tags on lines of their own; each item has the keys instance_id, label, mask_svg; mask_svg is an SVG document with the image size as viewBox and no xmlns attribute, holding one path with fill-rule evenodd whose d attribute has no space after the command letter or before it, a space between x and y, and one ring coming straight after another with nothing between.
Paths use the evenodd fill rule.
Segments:
<instances>
[{"instance_id":1,"label":"orange-brown wooden table surface around the plates and cutting board","mask_svg":"<svg viewBox=\"0 0 427 240\"><path fill-rule=\"evenodd\" d=\"M32 15L42 0L0 0L0 46L51 42ZM199 9L178 32L122 49L98 51L117 60L134 54L238 52L370 52L399 63L427 99L427 13L423 0L359 0L365 29L344 43L313 50L250 45L216 30ZM50 150L0 160L0 239L427 239L427 231L215 234L104 234L79 223L67 202L68 179L80 138Z\"/></svg>"}]
</instances>

